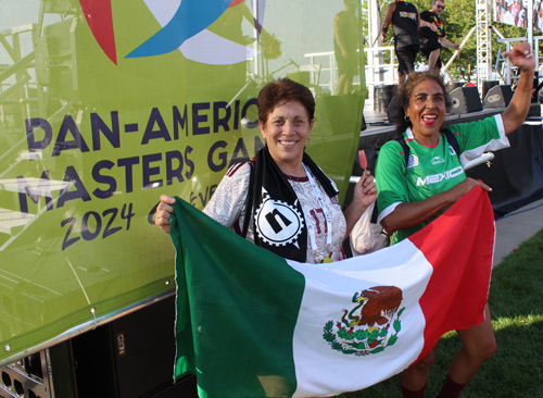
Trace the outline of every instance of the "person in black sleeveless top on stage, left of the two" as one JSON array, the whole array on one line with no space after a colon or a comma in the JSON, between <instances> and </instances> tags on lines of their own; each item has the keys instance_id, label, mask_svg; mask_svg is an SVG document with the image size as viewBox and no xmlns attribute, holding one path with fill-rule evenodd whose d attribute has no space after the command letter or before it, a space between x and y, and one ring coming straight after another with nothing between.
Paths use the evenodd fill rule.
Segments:
<instances>
[{"instance_id":1,"label":"person in black sleeveless top on stage, left of the two","mask_svg":"<svg viewBox=\"0 0 543 398\"><path fill-rule=\"evenodd\" d=\"M420 46L418 36L420 17L417 8L403 0L389 4L382 23L382 42L386 40L390 24L394 32L394 49L399 63L397 82L403 85L405 76L415 71L415 58Z\"/></svg>"}]
</instances>

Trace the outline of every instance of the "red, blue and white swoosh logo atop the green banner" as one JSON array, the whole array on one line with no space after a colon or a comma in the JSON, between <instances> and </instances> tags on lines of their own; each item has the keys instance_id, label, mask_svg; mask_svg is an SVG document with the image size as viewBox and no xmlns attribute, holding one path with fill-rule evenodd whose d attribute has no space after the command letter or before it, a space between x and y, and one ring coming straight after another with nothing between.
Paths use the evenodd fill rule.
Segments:
<instances>
[{"instance_id":1,"label":"red, blue and white swoosh logo atop the green banner","mask_svg":"<svg viewBox=\"0 0 543 398\"><path fill-rule=\"evenodd\" d=\"M154 57L180 49L185 57L197 62L209 64L231 64L245 61L254 55L253 50L222 38L206 28L213 24L228 8L238 5L244 0L182 0L177 9L172 10L174 2L144 0L146 5L162 25L162 28L132 50L126 58ZM97 42L108 58L117 64L115 35L111 0L79 0L83 13L89 24ZM173 14L173 16L172 16ZM187 17L187 15L190 15ZM260 23L255 21L255 26ZM193 46L187 45L193 39ZM214 55L194 53L192 48L222 48L223 51L209 51Z\"/></svg>"}]
</instances>

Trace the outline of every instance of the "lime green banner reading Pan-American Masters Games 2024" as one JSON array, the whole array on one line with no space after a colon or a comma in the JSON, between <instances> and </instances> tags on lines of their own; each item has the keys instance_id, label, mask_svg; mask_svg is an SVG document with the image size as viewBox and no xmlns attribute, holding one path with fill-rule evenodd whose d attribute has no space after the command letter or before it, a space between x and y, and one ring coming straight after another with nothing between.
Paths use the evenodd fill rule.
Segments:
<instances>
[{"instance_id":1,"label":"lime green banner reading Pan-American Masters Games 2024","mask_svg":"<svg viewBox=\"0 0 543 398\"><path fill-rule=\"evenodd\" d=\"M366 91L359 9L3 4L0 364L173 287L174 248L153 222L160 195L205 207L228 167L263 147L256 97L272 79L313 91L307 151L344 198Z\"/></svg>"}]
</instances>

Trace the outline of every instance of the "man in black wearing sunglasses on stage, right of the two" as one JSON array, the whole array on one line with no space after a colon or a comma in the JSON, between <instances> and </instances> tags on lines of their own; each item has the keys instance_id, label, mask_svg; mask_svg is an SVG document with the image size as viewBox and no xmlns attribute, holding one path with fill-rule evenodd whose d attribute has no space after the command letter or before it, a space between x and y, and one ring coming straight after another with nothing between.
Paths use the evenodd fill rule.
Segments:
<instances>
[{"instance_id":1,"label":"man in black wearing sunglasses on stage, right of the two","mask_svg":"<svg viewBox=\"0 0 543 398\"><path fill-rule=\"evenodd\" d=\"M459 50L460 46L455 45L445 39L445 28L441 14L445 10L445 2L443 0L433 0L431 11L422 11L420 13L421 28L420 28L420 53L425 55L430 70L441 70L441 48L452 48ZM431 27L435 26L435 29Z\"/></svg>"}]
</instances>

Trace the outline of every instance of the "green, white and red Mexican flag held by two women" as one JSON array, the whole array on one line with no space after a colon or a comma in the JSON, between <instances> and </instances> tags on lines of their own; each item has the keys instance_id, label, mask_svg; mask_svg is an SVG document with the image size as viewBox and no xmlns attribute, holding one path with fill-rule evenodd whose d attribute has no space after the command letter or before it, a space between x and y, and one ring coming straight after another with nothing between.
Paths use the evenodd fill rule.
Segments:
<instances>
[{"instance_id":1,"label":"green, white and red Mexican flag held by two women","mask_svg":"<svg viewBox=\"0 0 543 398\"><path fill-rule=\"evenodd\" d=\"M201 397L358 390L484 318L494 217L479 187L408 240L328 264L285 260L180 199L175 214L175 378L195 374Z\"/></svg>"}]
</instances>

